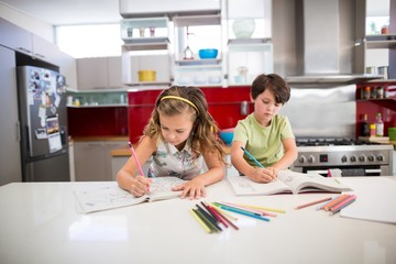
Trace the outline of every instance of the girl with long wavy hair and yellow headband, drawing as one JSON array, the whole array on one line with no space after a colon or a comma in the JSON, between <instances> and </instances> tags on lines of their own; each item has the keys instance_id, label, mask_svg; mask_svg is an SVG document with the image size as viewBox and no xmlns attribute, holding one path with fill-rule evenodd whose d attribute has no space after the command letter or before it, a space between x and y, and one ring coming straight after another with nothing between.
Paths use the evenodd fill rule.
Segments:
<instances>
[{"instance_id":1,"label":"girl with long wavy hair and yellow headband, drawing","mask_svg":"<svg viewBox=\"0 0 396 264\"><path fill-rule=\"evenodd\" d=\"M170 87L155 102L155 109L135 150L141 164L153 156L148 178L135 175L138 165L130 157L117 174L121 188L140 197L147 191L150 177L175 176L189 179L173 190L182 198L206 196L205 186L224 176L226 153L216 136L218 127L208 112L208 102L197 87ZM208 170L201 174L202 162Z\"/></svg>"}]
</instances>

